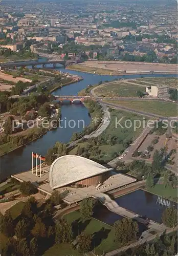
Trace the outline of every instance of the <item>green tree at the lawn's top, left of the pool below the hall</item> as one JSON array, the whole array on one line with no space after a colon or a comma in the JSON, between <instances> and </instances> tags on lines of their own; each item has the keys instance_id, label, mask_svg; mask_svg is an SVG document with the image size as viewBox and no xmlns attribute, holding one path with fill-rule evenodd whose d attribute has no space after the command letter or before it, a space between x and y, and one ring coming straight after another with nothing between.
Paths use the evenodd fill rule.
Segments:
<instances>
[{"instance_id":1,"label":"green tree at the lawn's top, left of the pool below the hall","mask_svg":"<svg viewBox=\"0 0 178 256\"><path fill-rule=\"evenodd\" d=\"M80 217L82 220L90 220L93 215L94 201L92 198L84 198L80 203Z\"/></svg>"}]
</instances>

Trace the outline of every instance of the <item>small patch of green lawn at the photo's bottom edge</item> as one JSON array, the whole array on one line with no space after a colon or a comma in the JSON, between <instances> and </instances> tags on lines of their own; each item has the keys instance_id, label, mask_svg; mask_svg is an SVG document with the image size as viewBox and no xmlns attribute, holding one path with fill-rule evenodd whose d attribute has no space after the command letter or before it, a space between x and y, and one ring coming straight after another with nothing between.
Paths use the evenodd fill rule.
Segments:
<instances>
[{"instance_id":1,"label":"small patch of green lawn at the photo's bottom edge","mask_svg":"<svg viewBox=\"0 0 178 256\"><path fill-rule=\"evenodd\" d=\"M66 256L66 255L81 255L77 250L72 249L70 244L55 244L50 247L46 252L45 256Z\"/></svg>"}]
</instances>

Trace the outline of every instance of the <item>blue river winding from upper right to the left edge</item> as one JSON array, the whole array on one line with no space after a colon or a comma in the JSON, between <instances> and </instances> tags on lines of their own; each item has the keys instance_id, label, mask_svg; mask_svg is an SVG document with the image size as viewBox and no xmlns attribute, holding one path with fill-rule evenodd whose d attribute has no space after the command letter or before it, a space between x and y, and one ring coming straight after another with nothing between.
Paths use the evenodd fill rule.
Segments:
<instances>
[{"instance_id":1,"label":"blue river winding from upper right to the left edge","mask_svg":"<svg viewBox=\"0 0 178 256\"><path fill-rule=\"evenodd\" d=\"M48 67L51 67L50 65ZM109 76L96 75L79 71L66 70L62 67L56 68L62 72L70 72L83 77L82 81L72 83L69 86L58 89L53 92L54 95L77 95L79 91L87 87L87 84L96 84L99 81L112 81L114 78L139 78L139 77L175 77L175 74L147 74L147 75L124 75ZM56 130L48 132L38 140L21 147L1 158L1 180L6 177L23 172L32 167L31 153L35 152L45 156L48 148L52 147L56 141L68 143L75 132L80 132L83 126L87 126L91 122L87 109L83 105L62 105L61 114L63 124ZM71 121L70 121L71 120ZM82 120L82 121L79 121ZM76 124L74 126L74 124ZM74 127L73 127L74 126Z\"/></svg>"}]
</instances>

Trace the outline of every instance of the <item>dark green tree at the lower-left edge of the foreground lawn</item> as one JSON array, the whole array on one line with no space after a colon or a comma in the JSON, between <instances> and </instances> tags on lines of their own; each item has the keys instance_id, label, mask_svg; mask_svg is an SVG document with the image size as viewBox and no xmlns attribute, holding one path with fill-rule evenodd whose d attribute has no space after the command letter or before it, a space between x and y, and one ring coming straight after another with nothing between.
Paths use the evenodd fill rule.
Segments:
<instances>
[{"instance_id":1,"label":"dark green tree at the lower-left edge of the foreground lawn","mask_svg":"<svg viewBox=\"0 0 178 256\"><path fill-rule=\"evenodd\" d=\"M85 234L84 232L81 232L79 236L77 237L78 241L78 250L80 253L84 254L91 250L92 245L92 236L91 234Z\"/></svg>"}]
</instances>

